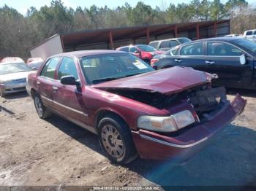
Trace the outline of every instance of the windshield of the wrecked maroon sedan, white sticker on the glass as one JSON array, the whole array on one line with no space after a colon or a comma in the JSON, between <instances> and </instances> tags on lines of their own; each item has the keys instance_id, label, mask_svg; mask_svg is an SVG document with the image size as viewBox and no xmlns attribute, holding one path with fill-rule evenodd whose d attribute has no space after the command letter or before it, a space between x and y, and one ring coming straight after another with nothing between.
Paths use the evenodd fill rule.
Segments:
<instances>
[{"instance_id":1,"label":"windshield of the wrecked maroon sedan, white sticker on the glass","mask_svg":"<svg viewBox=\"0 0 256 191\"><path fill-rule=\"evenodd\" d=\"M128 53L86 56L80 58L80 65L89 85L154 71Z\"/></svg>"}]
</instances>

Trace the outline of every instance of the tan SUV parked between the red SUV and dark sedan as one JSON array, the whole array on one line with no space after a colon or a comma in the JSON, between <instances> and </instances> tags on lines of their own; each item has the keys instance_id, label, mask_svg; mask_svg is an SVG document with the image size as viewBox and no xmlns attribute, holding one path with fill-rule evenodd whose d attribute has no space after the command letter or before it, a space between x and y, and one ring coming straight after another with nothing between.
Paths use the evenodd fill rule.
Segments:
<instances>
[{"instance_id":1,"label":"tan SUV parked between the red SUV and dark sedan","mask_svg":"<svg viewBox=\"0 0 256 191\"><path fill-rule=\"evenodd\" d=\"M166 51L166 50L170 50L173 47L178 46L179 44L184 44L187 42L191 42L191 40L186 37L181 37L181 38L174 38L174 39L152 41L152 42L149 42L148 45L156 48L157 50Z\"/></svg>"}]
</instances>

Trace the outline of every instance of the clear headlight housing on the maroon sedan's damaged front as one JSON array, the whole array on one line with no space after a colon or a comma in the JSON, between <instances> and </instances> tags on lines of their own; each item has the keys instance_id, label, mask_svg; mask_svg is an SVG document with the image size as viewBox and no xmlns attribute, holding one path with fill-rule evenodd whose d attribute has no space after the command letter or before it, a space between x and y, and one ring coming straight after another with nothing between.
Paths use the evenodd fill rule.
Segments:
<instances>
[{"instance_id":1,"label":"clear headlight housing on the maroon sedan's damaged front","mask_svg":"<svg viewBox=\"0 0 256 191\"><path fill-rule=\"evenodd\" d=\"M184 110L167 117L143 115L138 118L138 128L159 132L173 132L195 122L189 110Z\"/></svg>"}]
</instances>

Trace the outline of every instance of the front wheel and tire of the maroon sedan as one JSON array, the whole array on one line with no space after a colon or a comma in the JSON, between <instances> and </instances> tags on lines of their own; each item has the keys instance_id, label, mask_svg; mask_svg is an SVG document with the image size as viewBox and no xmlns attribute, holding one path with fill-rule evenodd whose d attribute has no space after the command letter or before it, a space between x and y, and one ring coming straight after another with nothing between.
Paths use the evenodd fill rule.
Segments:
<instances>
[{"instance_id":1,"label":"front wheel and tire of the maroon sedan","mask_svg":"<svg viewBox=\"0 0 256 191\"><path fill-rule=\"evenodd\" d=\"M99 142L113 163L127 164L137 157L132 134L127 124L116 116L99 121Z\"/></svg>"}]
</instances>

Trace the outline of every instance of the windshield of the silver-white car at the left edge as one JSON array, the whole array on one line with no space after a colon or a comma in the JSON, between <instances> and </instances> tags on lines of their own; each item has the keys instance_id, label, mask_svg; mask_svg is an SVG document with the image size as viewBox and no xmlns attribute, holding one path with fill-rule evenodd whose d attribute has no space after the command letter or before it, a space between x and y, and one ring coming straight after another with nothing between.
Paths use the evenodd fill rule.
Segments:
<instances>
[{"instance_id":1,"label":"windshield of the silver-white car at the left edge","mask_svg":"<svg viewBox=\"0 0 256 191\"><path fill-rule=\"evenodd\" d=\"M31 69L26 65L26 63L0 63L0 75L22 71L31 71Z\"/></svg>"}]
</instances>

